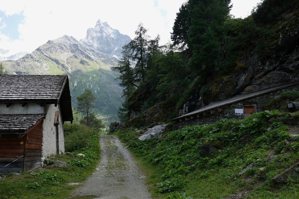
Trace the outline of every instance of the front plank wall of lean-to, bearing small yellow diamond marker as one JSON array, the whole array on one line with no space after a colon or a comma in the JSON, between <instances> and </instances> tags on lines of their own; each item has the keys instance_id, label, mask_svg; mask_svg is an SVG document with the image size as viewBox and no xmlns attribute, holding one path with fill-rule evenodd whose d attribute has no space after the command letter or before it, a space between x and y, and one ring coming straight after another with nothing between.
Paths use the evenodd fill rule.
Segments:
<instances>
[{"instance_id":1,"label":"front plank wall of lean-to, bearing small yellow diamond marker","mask_svg":"<svg viewBox=\"0 0 299 199\"><path fill-rule=\"evenodd\" d=\"M21 141L24 142L23 145L20 144ZM24 155L25 142L26 136L19 138L18 134L2 134L2 137L0 138L0 168ZM0 172L5 173L23 171L23 167L24 157L1 169Z\"/></svg>"}]
</instances>

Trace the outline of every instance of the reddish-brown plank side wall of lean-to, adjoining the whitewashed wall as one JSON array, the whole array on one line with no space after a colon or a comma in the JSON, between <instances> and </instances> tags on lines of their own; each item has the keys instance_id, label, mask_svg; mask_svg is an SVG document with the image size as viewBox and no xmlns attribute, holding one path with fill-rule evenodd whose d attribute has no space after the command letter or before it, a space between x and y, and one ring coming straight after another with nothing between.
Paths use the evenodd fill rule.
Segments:
<instances>
[{"instance_id":1,"label":"reddish-brown plank side wall of lean-to, adjoining the whitewashed wall","mask_svg":"<svg viewBox=\"0 0 299 199\"><path fill-rule=\"evenodd\" d=\"M41 167L42 121L27 133L25 143L24 171Z\"/></svg>"}]
</instances>

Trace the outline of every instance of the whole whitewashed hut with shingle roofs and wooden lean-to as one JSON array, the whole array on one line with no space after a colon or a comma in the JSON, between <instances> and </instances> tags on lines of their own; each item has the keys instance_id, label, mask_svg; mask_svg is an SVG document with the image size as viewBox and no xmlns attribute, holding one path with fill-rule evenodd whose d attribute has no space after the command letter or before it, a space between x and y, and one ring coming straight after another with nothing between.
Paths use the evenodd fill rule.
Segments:
<instances>
[{"instance_id":1,"label":"whole whitewashed hut with shingle roofs and wooden lean-to","mask_svg":"<svg viewBox=\"0 0 299 199\"><path fill-rule=\"evenodd\" d=\"M0 172L30 171L64 152L65 121L73 121L68 76L0 75Z\"/></svg>"}]
</instances>

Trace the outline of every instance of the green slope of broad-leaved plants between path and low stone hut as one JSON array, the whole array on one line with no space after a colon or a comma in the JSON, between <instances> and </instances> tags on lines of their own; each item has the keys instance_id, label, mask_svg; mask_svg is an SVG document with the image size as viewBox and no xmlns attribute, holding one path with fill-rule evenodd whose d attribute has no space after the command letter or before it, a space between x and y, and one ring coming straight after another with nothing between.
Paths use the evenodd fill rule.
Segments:
<instances>
[{"instance_id":1,"label":"green slope of broad-leaved plants between path and low stone hut","mask_svg":"<svg viewBox=\"0 0 299 199\"><path fill-rule=\"evenodd\" d=\"M272 180L299 160L298 137L289 133L299 128L298 122L298 112L274 110L187 126L143 141L130 129L116 134L147 174L154 198L299 198L298 169L281 184ZM207 148L213 153L205 156Z\"/></svg>"}]
</instances>

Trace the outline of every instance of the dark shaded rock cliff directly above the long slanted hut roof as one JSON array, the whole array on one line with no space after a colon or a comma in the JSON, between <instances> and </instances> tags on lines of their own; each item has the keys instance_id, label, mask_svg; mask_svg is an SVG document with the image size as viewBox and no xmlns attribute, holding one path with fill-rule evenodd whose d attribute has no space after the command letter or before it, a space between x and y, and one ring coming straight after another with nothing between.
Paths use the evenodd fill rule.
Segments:
<instances>
[{"instance_id":1,"label":"dark shaded rock cliff directly above the long slanted hut roof","mask_svg":"<svg viewBox=\"0 0 299 199\"><path fill-rule=\"evenodd\" d=\"M184 115L211 102L223 100L237 94L274 86L299 79L299 28L280 36L271 58L262 61L257 49L248 59L242 60L246 67L229 76L222 76L208 82L209 92L202 97L202 86L195 89L190 99L179 110Z\"/></svg>"}]
</instances>

